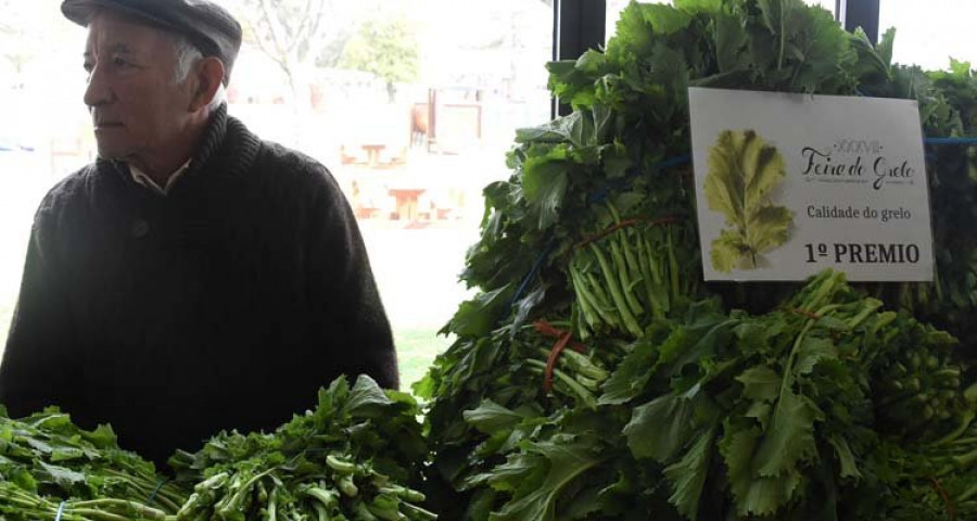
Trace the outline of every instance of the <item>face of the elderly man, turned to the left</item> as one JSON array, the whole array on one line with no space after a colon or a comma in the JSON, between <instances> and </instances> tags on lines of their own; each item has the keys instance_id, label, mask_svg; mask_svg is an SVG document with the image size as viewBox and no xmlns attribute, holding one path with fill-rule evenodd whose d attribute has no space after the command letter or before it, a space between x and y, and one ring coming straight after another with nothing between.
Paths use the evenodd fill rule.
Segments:
<instances>
[{"instance_id":1,"label":"face of the elderly man, turned to the left","mask_svg":"<svg viewBox=\"0 0 977 521\"><path fill-rule=\"evenodd\" d=\"M99 13L88 25L85 104L99 155L145 162L165 156L188 122L189 81L175 81L168 33Z\"/></svg>"}]
</instances>

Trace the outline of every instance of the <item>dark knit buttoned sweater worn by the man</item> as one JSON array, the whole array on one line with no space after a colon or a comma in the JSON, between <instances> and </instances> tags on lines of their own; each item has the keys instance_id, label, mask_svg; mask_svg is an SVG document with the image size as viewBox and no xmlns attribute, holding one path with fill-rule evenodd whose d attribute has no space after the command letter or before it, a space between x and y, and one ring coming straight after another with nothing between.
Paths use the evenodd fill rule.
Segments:
<instances>
[{"instance_id":1,"label":"dark knit buttoned sweater worn by the man","mask_svg":"<svg viewBox=\"0 0 977 521\"><path fill-rule=\"evenodd\" d=\"M225 109L168 195L98 161L41 203L0 366L12 416L59 405L161 462L274 429L358 373L397 385L348 204L323 166Z\"/></svg>"}]
</instances>

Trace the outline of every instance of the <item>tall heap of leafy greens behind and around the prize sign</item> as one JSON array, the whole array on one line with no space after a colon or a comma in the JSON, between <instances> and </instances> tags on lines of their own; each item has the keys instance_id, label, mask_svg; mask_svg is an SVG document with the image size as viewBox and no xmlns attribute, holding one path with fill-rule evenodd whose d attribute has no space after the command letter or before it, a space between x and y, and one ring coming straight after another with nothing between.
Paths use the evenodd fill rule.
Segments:
<instances>
[{"instance_id":1,"label":"tall heap of leafy greens behind and around the prize sign","mask_svg":"<svg viewBox=\"0 0 977 521\"><path fill-rule=\"evenodd\" d=\"M926 135L977 134L969 65L892 65L893 37L800 0L632 3L605 52L549 64L573 112L517 134L479 293L415 387L444 517L973 514L972 150L927 149L932 284L701 280L687 88L913 98Z\"/></svg>"}]
</instances>

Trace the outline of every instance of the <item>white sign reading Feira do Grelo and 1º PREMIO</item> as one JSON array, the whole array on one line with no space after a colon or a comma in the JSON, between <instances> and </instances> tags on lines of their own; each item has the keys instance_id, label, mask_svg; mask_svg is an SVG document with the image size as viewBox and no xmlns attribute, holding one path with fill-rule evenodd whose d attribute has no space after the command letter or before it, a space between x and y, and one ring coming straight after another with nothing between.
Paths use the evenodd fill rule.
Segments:
<instances>
[{"instance_id":1,"label":"white sign reading Feira do Grelo and 1\u00ba PREMIO","mask_svg":"<svg viewBox=\"0 0 977 521\"><path fill-rule=\"evenodd\" d=\"M915 101L689 89L706 280L930 281Z\"/></svg>"}]
</instances>

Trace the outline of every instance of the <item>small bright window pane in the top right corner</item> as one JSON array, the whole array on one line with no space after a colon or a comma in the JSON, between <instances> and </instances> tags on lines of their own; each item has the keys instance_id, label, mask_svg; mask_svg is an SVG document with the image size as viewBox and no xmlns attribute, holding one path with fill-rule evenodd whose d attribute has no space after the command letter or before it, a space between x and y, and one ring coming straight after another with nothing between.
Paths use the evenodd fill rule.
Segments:
<instances>
[{"instance_id":1,"label":"small bright window pane in the top right corner","mask_svg":"<svg viewBox=\"0 0 977 521\"><path fill-rule=\"evenodd\" d=\"M879 34L896 28L892 59L924 69L948 68L950 59L977 65L974 37L977 2L973 0L885 0L879 11Z\"/></svg>"}]
</instances>

